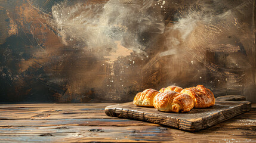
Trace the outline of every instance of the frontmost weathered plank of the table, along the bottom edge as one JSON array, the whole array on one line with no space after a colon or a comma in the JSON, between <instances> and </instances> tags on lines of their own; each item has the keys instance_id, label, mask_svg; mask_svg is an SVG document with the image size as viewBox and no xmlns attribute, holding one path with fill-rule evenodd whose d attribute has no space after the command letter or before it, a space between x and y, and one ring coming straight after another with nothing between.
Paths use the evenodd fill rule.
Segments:
<instances>
[{"instance_id":1,"label":"frontmost weathered plank of the table, along the bottom edge","mask_svg":"<svg viewBox=\"0 0 256 143\"><path fill-rule=\"evenodd\" d=\"M221 128L221 130L220 130ZM256 127L214 126L201 132L184 132L161 126L45 126L0 128L0 141L64 141L64 142L197 142L256 141ZM232 140L233 139L233 140Z\"/></svg>"}]
</instances>

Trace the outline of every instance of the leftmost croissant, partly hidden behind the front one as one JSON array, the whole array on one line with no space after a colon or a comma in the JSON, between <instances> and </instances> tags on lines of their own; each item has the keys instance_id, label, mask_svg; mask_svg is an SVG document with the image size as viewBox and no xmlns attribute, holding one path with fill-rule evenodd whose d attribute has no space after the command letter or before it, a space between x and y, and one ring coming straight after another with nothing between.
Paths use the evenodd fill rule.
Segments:
<instances>
[{"instance_id":1,"label":"leftmost croissant, partly hidden behind the front one","mask_svg":"<svg viewBox=\"0 0 256 143\"><path fill-rule=\"evenodd\" d=\"M156 91L155 89L146 89L143 92L139 92L134 97L133 104L153 107L153 100L157 94L159 94L159 91Z\"/></svg>"}]
</instances>

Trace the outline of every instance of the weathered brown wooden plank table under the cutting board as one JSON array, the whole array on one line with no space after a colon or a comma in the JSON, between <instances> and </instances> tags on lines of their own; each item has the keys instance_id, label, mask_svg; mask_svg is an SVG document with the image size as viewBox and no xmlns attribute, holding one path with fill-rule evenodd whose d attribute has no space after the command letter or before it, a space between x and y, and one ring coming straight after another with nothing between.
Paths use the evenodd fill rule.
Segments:
<instances>
[{"instance_id":1,"label":"weathered brown wooden plank table under the cutting board","mask_svg":"<svg viewBox=\"0 0 256 143\"><path fill-rule=\"evenodd\" d=\"M256 142L256 104L194 133L109 117L107 105L0 104L0 142Z\"/></svg>"}]
</instances>

